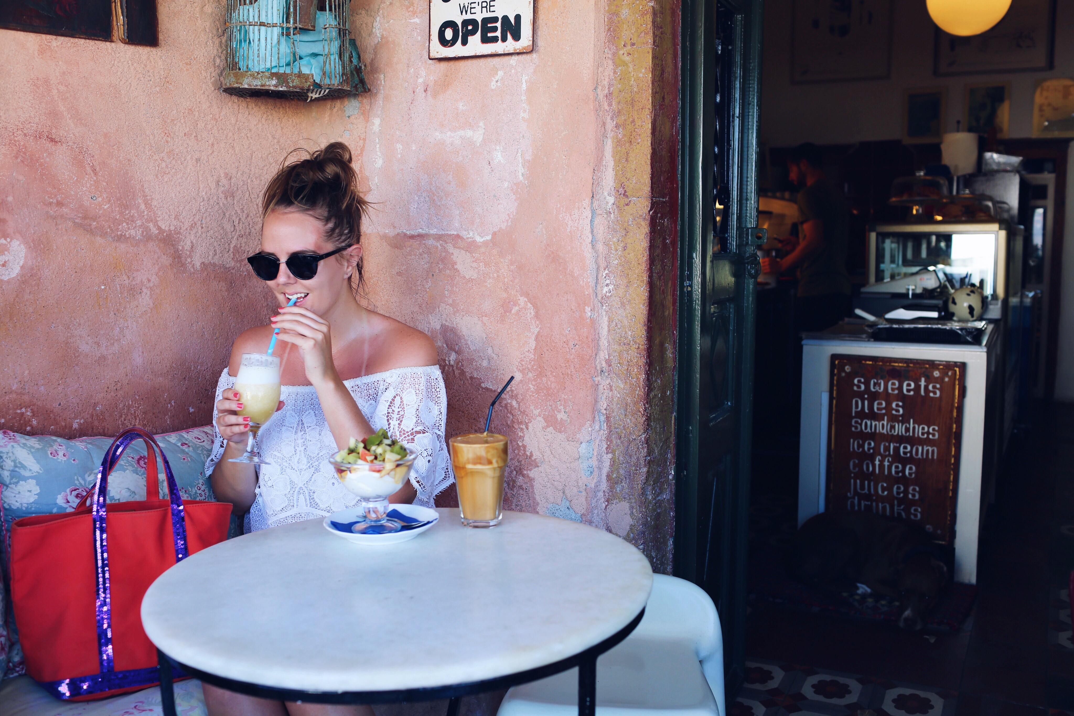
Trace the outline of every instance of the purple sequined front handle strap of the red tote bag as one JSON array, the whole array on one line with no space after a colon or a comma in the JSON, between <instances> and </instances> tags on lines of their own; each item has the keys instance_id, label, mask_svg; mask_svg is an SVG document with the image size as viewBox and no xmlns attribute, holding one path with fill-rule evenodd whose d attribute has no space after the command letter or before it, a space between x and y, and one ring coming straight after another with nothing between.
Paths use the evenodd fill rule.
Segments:
<instances>
[{"instance_id":1,"label":"purple sequined front handle strap of the red tote bag","mask_svg":"<svg viewBox=\"0 0 1074 716\"><path fill-rule=\"evenodd\" d=\"M183 496L179 495L175 476L168 464L164 451L146 430L140 427L129 427L113 440L104 453L101 467L97 470L97 483L93 485L93 557L97 562L97 643L100 649L101 674L114 671L114 654L112 651L112 584L108 574L108 532L107 532L107 495L108 476L119 463L124 451L135 440L145 440L146 457L156 459L154 448L160 454L164 465L164 476L168 482L168 499L172 512L172 537L175 543L175 561L179 562L189 554L187 546L187 525L183 507ZM146 495L146 499L149 496Z\"/></svg>"}]
</instances>

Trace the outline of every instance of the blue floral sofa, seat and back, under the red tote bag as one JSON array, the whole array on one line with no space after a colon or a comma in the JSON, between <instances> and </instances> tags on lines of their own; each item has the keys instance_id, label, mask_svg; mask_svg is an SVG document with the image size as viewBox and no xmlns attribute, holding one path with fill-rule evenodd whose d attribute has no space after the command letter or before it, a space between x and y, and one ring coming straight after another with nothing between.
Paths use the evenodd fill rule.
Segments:
<instances>
[{"instance_id":1,"label":"blue floral sofa, seat and back, under the red tote bag","mask_svg":"<svg viewBox=\"0 0 1074 716\"><path fill-rule=\"evenodd\" d=\"M158 435L179 492L185 499L213 499L205 479L205 461L213 449L213 428L194 427ZM160 689L125 693L101 701L59 701L25 675L18 632L8 598L8 540L11 523L35 514L71 512L92 489L97 468L112 438L64 440L50 436L18 435L0 430L0 716L158 716L163 714ZM145 444L128 448L108 478L108 501L145 499ZM163 491L164 474L160 472ZM232 535L237 521L232 520ZM201 684L176 684L179 716L205 716Z\"/></svg>"}]
</instances>

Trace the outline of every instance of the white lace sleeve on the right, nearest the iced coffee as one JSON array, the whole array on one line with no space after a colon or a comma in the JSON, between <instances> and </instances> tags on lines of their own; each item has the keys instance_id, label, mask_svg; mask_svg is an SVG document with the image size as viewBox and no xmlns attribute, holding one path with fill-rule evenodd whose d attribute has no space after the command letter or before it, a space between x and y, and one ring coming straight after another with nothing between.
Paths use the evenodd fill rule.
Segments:
<instances>
[{"instance_id":1,"label":"white lace sleeve on the right, nearest the iced coffee","mask_svg":"<svg viewBox=\"0 0 1074 716\"><path fill-rule=\"evenodd\" d=\"M448 396L437 366L398 370L377 401L369 421L384 427L395 440L418 453L410 482L418 491L415 505L433 507L433 498L451 484L448 448L444 442Z\"/></svg>"}]
</instances>

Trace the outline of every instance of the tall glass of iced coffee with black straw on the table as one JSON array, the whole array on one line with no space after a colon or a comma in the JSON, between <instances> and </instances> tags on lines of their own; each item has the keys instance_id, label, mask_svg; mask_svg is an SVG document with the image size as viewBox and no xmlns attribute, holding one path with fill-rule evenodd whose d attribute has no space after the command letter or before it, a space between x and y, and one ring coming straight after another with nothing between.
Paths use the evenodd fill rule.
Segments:
<instances>
[{"instance_id":1,"label":"tall glass of iced coffee with black straw on the table","mask_svg":"<svg viewBox=\"0 0 1074 716\"><path fill-rule=\"evenodd\" d=\"M451 438L459 511L467 527L495 527L504 505L507 438L495 433L470 433Z\"/></svg>"}]
</instances>

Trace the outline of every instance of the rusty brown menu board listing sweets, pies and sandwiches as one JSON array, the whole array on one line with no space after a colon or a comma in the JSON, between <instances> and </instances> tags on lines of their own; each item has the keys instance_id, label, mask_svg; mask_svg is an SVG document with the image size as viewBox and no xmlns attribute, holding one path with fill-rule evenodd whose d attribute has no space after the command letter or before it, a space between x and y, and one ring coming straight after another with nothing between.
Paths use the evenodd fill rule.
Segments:
<instances>
[{"instance_id":1,"label":"rusty brown menu board listing sweets, pies and sandwiches","mask_svg":"<svg viewBox=\"0 0 1074 716\"><path fill-rule=\"evenodd\" d=\"M966 364L831 356L827 510L906 520L955 539Z\"/></svg>"}]
</instances>

